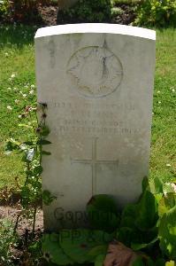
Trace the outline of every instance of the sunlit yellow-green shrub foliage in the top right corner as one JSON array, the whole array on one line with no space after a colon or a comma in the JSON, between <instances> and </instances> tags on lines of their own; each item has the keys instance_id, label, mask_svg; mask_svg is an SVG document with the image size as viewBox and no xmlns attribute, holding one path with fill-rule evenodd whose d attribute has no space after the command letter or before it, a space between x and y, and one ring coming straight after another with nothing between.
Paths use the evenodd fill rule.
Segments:
<instances>
[{"instance_id":1,"label":"sunlit yellow-green shrub foliage in the top right corner","mask_svg":"<svg viewBox=\"0 0 176 266\"><path fill-rule=\"evenodd\" d=\"M140 26L176 26L175 0L145 0L138 4L136 25Z\"/></svg>"}]
</instances>

